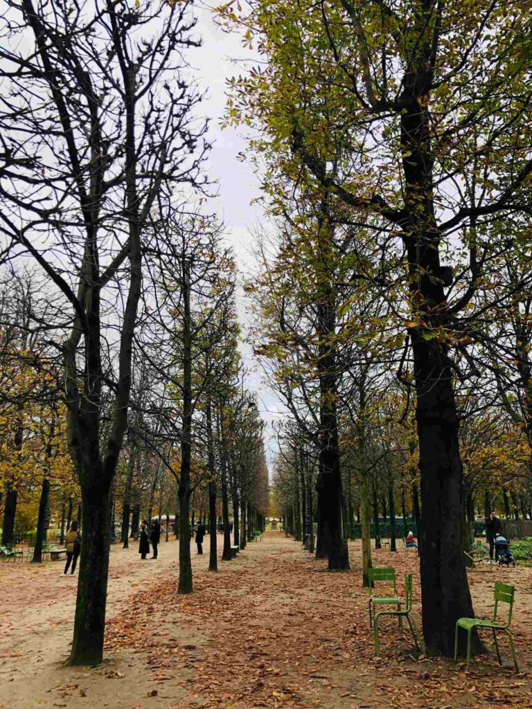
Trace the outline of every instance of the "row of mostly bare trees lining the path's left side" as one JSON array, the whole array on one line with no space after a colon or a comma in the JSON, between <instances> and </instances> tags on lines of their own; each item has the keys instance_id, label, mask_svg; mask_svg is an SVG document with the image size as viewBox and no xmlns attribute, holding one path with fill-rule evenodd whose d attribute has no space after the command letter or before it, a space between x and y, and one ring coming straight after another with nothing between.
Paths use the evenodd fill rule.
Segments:
<instances>
[{"instance_id":1,"label":"row of mostly bare trees lining the path's left side","mask_svg":"<svg viewBox=\"0 0 532 709\"><path fill-rule=\"evenodd\" d=\"M265 509L257 414L239 428L250 400L235 384L235 267L206 211L207 122L187 58L201 45L192 6L3 0L1 376L6 445L18 456L2 472L4 527L42 429L36 474L50 481L66 450L81 498L72 664L102 659L118 469L127 469L124 526L135 470L177 484L183 592L192 590L189 505L200 481L215 499L219 479L226 507L238 469L231 492L243 514ZM35 279L35 269L38 298L21 310L13 282L25 270Z\"/></svg>"}]
</instances>

